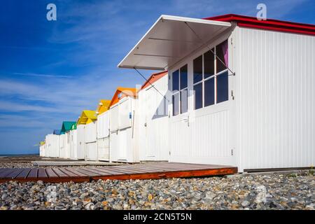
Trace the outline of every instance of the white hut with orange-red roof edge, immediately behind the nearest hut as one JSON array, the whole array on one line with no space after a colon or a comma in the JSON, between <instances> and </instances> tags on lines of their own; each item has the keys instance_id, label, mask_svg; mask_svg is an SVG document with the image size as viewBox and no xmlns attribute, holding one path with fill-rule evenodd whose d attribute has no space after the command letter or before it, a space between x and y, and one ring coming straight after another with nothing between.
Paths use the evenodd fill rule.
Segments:
<instances>
[{"instance_id":1,"label":"white hut with orange-red roof edge, immediately behind the nearest hut","mask_svg":"<svg viewBox=\"0 0 315 224\"><path fill-rule=\"evenodd\" d=\"M139 160L168 161L168 73L154 73L138 92Z\"/></svg>"}]
</instances>

